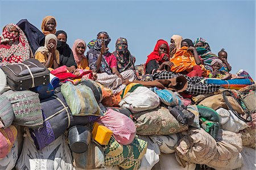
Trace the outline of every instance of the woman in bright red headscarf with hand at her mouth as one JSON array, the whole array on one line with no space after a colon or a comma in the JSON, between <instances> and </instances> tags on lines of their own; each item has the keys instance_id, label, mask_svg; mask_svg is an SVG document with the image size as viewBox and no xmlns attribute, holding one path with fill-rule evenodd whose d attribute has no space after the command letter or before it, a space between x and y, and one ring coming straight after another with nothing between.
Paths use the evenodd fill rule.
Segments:
<instances>
[{"instance_id":1,"label":"woman in bright red headscarf with hand at her mouth","mask_svg":"<svg viewBox=\"0 0 256 170\"><path fill-rule=\"evenodd\" d=\"M164 69L170 71L173 63L170 61L169 47L165 40L158 40L155 45L154 51L147 56L145 64L146 74L153 74Z\"/></svg>"}]
</instances>

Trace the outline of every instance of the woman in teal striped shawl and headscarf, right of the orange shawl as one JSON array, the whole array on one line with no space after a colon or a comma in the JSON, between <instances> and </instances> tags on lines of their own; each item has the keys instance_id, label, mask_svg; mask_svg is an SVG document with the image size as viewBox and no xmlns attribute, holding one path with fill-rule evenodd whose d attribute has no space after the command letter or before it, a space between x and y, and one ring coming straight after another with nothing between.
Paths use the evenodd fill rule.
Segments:
<instances>
[{"instance_id":1,"label":"woman in teal striped shawl and headscarf, right of the orange shawl","mask_svg":"<svg viewBox=\"0 0 256 170\"><path fill-rule=\"evenodd\" d=\"M210 63L212 63L213 59L218 59L218 56L210 51L209 44L203 38L197 38L194 42L194 46L196 47L196 51L204 63L205 69L208 70L207 74L209 74L213 71Z\"/></svg>"}]
</instances>

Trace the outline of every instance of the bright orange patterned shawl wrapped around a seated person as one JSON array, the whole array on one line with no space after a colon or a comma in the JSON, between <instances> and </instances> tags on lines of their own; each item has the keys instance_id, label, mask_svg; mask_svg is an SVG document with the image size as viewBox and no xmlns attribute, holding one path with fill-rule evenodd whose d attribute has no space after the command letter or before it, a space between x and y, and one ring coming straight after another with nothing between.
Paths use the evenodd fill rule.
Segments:
<instances>
[{"instance_id":1,"label":"bright orange patterned shawl wrapped around a seated person","mask_svg":"<svg viewBox=\"0 0 256 170\"><path fill-rule=\"evenodd\" d=\"M174 66L171 68L172 72L191 72L193 67L197 65L192 52L187 51L187 49L188 47L181 47L170 60L174 63Z\"/></svg>"}]
</instances>

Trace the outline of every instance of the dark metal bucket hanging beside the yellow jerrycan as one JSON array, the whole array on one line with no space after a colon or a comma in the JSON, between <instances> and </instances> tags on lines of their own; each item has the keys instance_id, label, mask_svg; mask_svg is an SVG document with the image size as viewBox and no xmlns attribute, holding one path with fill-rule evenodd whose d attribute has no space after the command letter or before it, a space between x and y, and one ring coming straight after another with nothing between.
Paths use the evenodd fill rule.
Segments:
<instances>
[{"instance_id":1,"label":"dark metal bucket hanging beside the yellow jerrycan","mask_svg":"<svg viewBox=\"0 0 256 170\"><path fill-rule=\"evenodd\" d=\"M68 141L71 150L77 154L87 151L88 144L92 138L92 133L88 127L73 126L68 131Z\"/></svg>"}]
</instances>

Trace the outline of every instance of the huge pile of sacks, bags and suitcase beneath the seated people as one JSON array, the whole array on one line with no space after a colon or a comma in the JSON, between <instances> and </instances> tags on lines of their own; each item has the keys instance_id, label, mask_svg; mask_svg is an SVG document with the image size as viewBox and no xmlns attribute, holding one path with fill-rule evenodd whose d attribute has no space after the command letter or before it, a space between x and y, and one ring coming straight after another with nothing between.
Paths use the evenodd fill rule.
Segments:
<instances>
[{"instance_id":1,"label":"huge pile of sacks, bags and suitcase beneath the seated people","mask_svg":"<svg viewBox=\"0 0 256 170\"><path fill-rule=\"evenodd\" d=\"M0 67L0 169L255 169L255 84L185 98L130 83ZM176 81L176 80L175 80Z\"/></svg>"}]
</instances>

